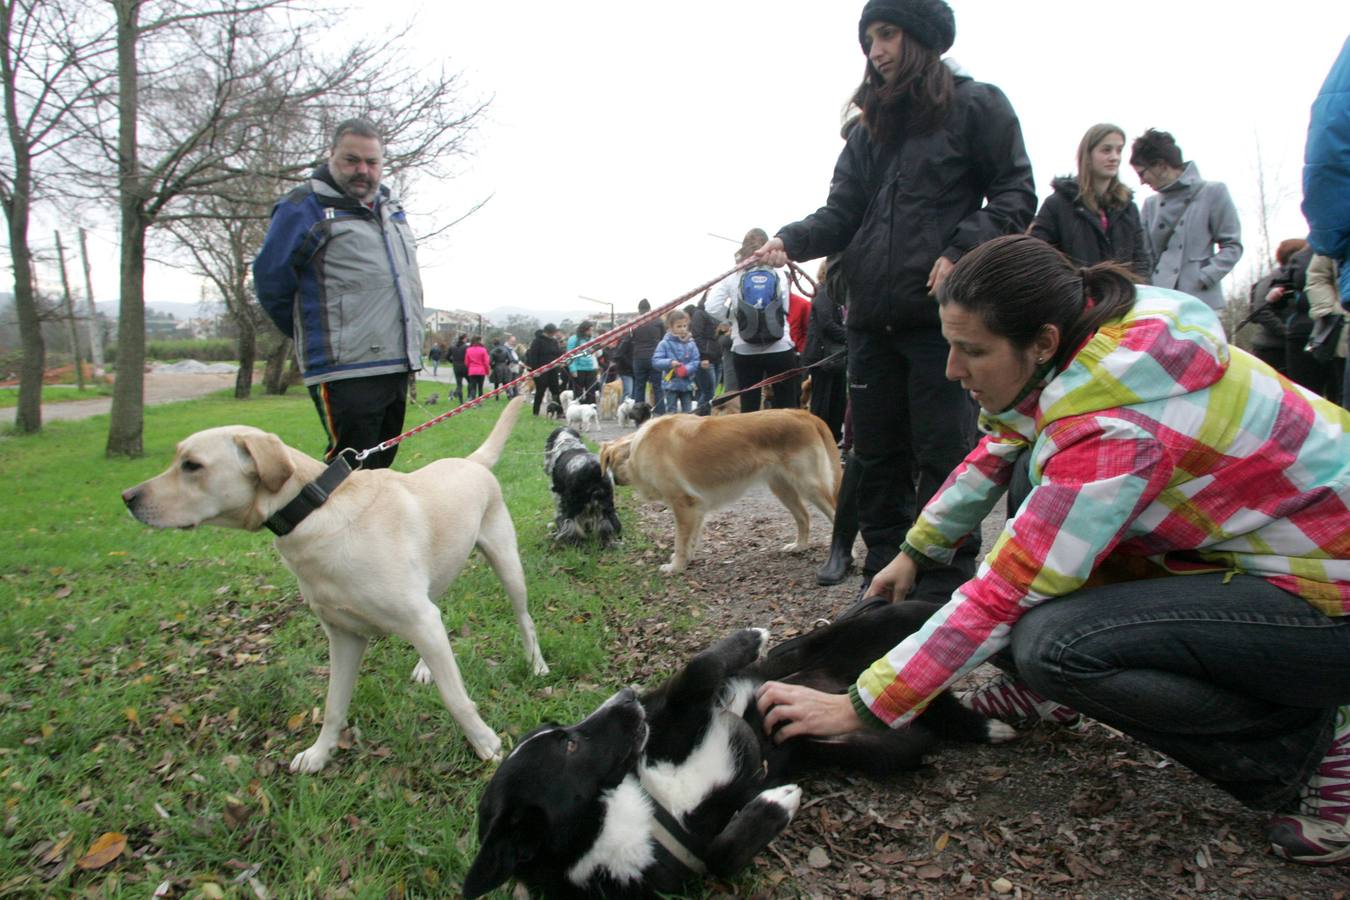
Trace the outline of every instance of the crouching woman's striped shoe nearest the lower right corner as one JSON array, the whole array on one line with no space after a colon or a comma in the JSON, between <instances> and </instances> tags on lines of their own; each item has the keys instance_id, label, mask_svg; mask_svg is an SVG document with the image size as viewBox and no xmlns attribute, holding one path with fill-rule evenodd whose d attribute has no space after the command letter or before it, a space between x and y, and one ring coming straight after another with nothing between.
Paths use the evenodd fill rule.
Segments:
<instances>
[{"instance_id":1,"label":"crouching woman's striped shoe nearest the lower right corner","mask_svg":"<svg viewBox=\"0 0 1350 900\"><path fill-rule=\"evenodd\" d=\"M1331 746L1303 785L1299 810L1272 816L1266 838L1292 862L1350 862L1350 706L1336 710Z\"/></svg>"}]
</instances>

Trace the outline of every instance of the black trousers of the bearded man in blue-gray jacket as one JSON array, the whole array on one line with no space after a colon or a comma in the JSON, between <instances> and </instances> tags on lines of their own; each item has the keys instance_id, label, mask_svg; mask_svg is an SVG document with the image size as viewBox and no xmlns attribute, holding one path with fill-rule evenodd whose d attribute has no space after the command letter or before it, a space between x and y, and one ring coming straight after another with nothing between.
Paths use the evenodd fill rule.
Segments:
<instances>
[{"instance_id":1,"label":"black trousers of the bearded man in blue-gray jacket","mask_svg":"<svg viewBox=\"0 0 1350 900\"><path fill-rule=\"evenodd\" d=\"M339 451L370 449L404 430L404 412L408 406L408 372L344 378L309 386L309 397L319 410L328 448L324 461L331 463ZM393 464L398 447L371 453L363 468L387 468Z\"/></svg>"}]
</instances>

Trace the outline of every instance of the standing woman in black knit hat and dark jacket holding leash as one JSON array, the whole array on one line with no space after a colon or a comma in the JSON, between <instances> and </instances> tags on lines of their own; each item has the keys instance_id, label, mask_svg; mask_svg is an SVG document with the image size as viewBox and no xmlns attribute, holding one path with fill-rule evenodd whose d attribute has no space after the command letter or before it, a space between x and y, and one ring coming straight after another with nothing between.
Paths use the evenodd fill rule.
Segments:
<instances>
[{"instance_id":1,"label":"standing woman in black knit hat and dark jacket holding leash","mask_svg":"<svg viewBox=\"0 0 1350 900\"><path fill-rule=\"evenodd\" d=\"M1035 189L1007 97L941 59L956 40L946 3L868 0L859 40L867 55L853 96L861 124L834 166L829 200L755 258L782 266L844 254L865 583L975 447L975 402L946 381L933 296L963 254L1026 229ZM972 576L979 549L972 538L952 572L925 573L925 592Z\"/></svg>"}]
</instances>

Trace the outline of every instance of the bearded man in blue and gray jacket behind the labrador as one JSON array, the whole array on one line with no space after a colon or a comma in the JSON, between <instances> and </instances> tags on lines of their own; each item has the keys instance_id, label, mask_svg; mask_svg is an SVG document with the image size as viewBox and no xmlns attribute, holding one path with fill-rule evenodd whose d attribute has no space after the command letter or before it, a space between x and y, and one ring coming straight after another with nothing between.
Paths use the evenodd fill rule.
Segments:
<instances>
[{"instance_id":1,"label":"bearded man in blue and gray jacket behind the labrador","mask_svg":"<svg viewBox=\"0 0 1350 900\"><path fill-rule=\"evenodd\" d=\"M404 208L379 184L383 139L364 119L333 132L328 162L281 198L254 260L258 302L296 340L328 448L375 447L402 432L421 370L423 286ZM397 447L366 457L394 461Z\"/></svg>"}]
</instances>

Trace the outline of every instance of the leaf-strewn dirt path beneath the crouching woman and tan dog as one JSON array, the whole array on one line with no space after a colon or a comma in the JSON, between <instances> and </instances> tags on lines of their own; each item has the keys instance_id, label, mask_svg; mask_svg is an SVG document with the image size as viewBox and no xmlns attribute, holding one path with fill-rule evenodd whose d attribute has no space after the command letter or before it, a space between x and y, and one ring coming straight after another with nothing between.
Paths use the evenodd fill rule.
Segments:
<instances>
[{"instance_id":1,"label":"leaf-strewn dirt path beneath the crouching woman and tan dog","mask_svg":"<svg viewBox=\"0 0 1350 900\"><path fill-rule=\"evenodd\" d=\"M606 424L591 437L617 433ZM653 567L666 561L671 514L647 503L636 518L625 528L655 538ZM986 546L1000 526L986 522ZM767 626L783 640L852 604L855 578L815 584L825 518L813 511L809 552L782 553L791 534L764 490L710 517L686 576L649 598L644 618L614 623L621 665L655 684L732 629ZM699 625L674 634L668 621L684 615ZM803 788L796 820L757 860L772 896L1343 899L1350 887L1343 869L1277 860L1261 815L1098 723L1038 726L996 748L949 745L887 784L825 776Z\"/></svg>"}]
</instances>

